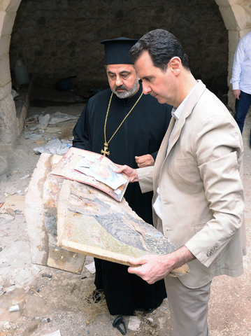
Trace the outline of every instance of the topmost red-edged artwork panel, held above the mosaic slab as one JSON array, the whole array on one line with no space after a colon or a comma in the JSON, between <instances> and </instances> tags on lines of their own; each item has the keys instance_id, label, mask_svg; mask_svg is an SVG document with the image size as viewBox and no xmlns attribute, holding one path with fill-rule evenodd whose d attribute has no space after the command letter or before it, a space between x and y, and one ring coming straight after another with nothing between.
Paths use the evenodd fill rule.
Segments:
<instances>
[{"instance_id":1,"label":"topmost red-edged artwork panel, held above the mosaic slab","mask_svg":"<svg viewBox=\"0 0 251 336\"><path fill-rule=\"evenodd\" d=\"M121 202L129 177L117 174L115 169L105 156L71 147L50 174L89 184Z\"/></svg>"}]
</instances>

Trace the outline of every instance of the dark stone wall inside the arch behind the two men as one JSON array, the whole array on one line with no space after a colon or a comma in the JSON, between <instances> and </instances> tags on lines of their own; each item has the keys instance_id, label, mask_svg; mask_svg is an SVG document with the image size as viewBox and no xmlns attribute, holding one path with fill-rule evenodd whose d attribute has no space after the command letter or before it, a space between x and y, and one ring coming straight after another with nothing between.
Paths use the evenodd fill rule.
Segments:
<instances>
[{"instance_id":1,"label":"dark stone wall inside the arch behind the two men","mask_svg":"<svg viewBox=\"0 0 251 336\"><path fill-rule=\"evenodd\" d=\"M215 0L22 0L10 41L10 70L22 59L41 85L77 75L83 87L106 87L99 42L140 38L157 28L179 38L196 78L213 90L223 78L227 87L228 34Z\"/></svg>"}]
</instances>

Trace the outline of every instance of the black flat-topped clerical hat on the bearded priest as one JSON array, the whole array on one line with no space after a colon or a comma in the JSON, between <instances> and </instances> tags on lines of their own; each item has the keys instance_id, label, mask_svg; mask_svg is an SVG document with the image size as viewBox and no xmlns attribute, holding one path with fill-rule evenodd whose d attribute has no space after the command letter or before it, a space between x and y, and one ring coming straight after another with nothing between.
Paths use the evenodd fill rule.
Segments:
<instances>
[{"instance_id":1,"label":"black flat-topped clerical hat on the bearded priest","mask_svg":"<svg viewBox=\"0 0 251 336\"><path fill-rule=\"evenodd\" d=\"M101 41L105 46L106 65L108 64L133 64L129 50L138 40L119 37L113 40Z\"/></svg>"}]
</instances>

